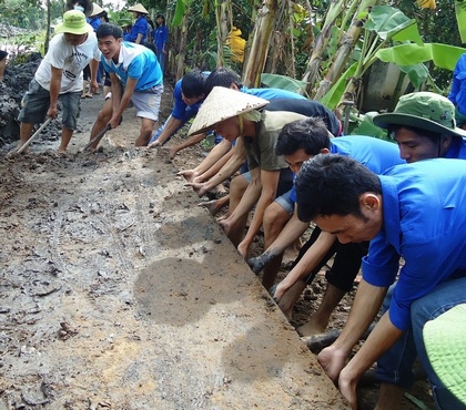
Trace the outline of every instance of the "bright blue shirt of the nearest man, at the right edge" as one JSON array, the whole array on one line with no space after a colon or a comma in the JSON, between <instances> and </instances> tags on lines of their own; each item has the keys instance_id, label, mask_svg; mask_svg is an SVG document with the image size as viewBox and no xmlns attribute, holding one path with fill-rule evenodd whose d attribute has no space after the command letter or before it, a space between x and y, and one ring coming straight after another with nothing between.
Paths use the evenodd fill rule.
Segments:
<instances>
[{"instance_id":1,"label":"bright blue shirt of the nearest man, at the right edge","mask_svg":"<svg viewBox=\"0 0 466 410\"><path fill-rule=\"evenodd\" d=\"M363 277L387 287L404 258L389 319L406 330L414 300L466 276L466 161L424 160L389 168L379 180L384 225L363 258Z\"/></svg>"}]
</instances>

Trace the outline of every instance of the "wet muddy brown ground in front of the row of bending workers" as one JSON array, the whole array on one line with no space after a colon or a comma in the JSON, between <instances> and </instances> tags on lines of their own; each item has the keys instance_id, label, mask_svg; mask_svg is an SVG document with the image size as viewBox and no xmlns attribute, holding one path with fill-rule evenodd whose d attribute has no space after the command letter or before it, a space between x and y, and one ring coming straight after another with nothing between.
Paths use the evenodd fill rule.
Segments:
<instances>
[{"instance_id":1,"label":"wet muddy brown ground in front of the row of bending workers","mask_svg":"<svg viewBox=\"0 0 466 410\"><path fill-rule=\"evenodd\" d=\"M0 409L346 408L294 330L324 276L288 324L176 176L207 147L173 162L136 150L129 109L98 152L81 153L101 103L82 100L65 156L47 132L27 155L0 153ZM162 119L170 109L168 83ZM361 390L361 409L376 391ZM425 381L402 409L421 406L433 408Z\"/></svg>"}]
</instances>

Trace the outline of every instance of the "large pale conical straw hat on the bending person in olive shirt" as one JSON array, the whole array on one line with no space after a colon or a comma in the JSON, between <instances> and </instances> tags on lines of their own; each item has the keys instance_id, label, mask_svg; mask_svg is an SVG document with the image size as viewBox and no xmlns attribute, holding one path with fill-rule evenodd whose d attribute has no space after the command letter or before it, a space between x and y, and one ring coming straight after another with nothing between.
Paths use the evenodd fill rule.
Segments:
<instances>
[{"instance_id":1,"label":"large pale conical straw hat on the bending person in olive shirt","mask_svg":"<svg viewBox=\"0 0 466 410\"><path fill-rule=\"evenodd\" d=\"M224 86L214 86L199 109L189 135L203 133L221 121L262 109L267 104L267 100L259 96Z\"/></svg>"}]
</instances>

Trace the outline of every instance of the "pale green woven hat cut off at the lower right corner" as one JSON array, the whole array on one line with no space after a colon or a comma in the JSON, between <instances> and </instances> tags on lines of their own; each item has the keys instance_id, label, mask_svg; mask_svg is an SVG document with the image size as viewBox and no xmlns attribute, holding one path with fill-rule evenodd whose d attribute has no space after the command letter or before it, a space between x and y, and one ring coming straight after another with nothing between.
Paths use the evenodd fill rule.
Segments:
<instances>
[{"instance_id":1,"label":"pale green woven hat cut off at the lower right corner","mask_svg":"<svg viewBox=\"0 0 466 410\"><path fill-rule=\"evenodd\" d=\"M423 337L435 373L466 404L466 304L427 321Z\"/></svg>"}]
</instances>

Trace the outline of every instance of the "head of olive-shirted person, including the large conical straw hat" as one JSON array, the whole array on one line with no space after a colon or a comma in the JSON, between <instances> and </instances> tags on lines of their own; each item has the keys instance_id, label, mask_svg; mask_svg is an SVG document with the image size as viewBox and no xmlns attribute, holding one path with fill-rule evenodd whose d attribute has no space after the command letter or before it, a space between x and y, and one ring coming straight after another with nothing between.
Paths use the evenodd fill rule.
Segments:
<instances>
[{"instance_id":1,"label":"head of olive-shirted person, including the large conical straw hat","mask_svg":"<svg viewBox=\"0 0 466 410\"><path fill-rule=\"evenodd\" d=\"M243 134L243 121L260 121L261 113L257 110L266 104L269 101L259 96L215 86L202 103L189 135L215 130L232 142Z\"/></svg>"}]
</instances>

